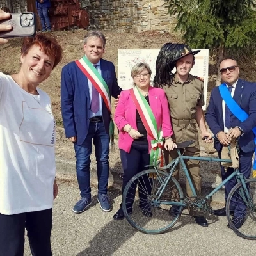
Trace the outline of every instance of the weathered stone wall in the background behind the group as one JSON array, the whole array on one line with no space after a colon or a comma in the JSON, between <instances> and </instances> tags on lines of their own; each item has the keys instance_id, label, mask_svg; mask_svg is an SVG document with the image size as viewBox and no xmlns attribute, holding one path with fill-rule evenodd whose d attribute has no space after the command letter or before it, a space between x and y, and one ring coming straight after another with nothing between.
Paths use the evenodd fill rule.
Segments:
<instances>
[{"instance_id":1,"label":"weathered stone wall in the background behind the group","mask_svg":"<svg viewBox=\"0 0 256 256\"><path fill-rule=\"evenodd\" d=\"M7 2L0 0L0 7ZM13 12L25 12L26 2L12 0ZM164 0L80 0L80 3L90 13L89 29L172 31L176 22L175 17L168 15Z\"/></svg>"}]
</instances>

